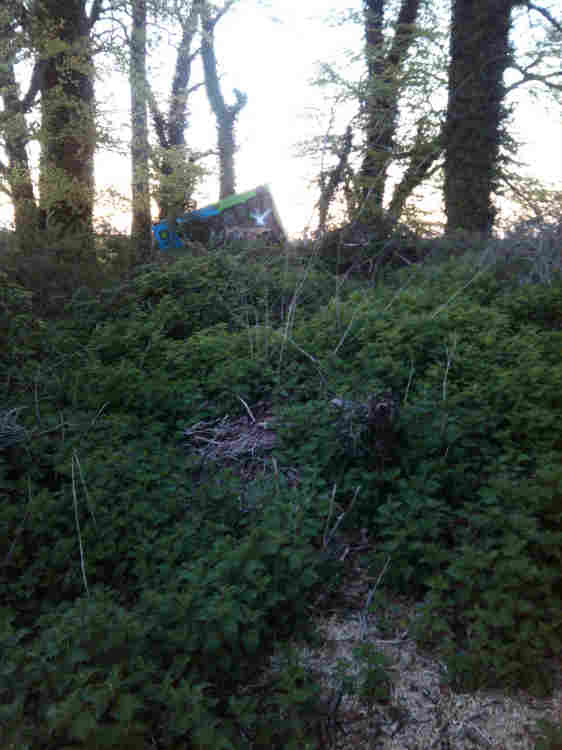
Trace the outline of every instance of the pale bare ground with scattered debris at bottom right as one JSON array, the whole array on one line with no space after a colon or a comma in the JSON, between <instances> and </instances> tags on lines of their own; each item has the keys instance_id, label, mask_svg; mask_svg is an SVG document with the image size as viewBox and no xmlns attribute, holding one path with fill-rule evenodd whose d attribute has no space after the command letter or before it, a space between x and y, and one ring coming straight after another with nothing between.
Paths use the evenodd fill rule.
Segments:
<instances>
[{"instance_id":1,"label":"pale bare ground with scattered debris at bottom right","mask_svg":"<svg viewBox=\"0 0 562 750\"><path fill-rule=\"evenodd\" d=\"M358 543L359 542L359 543ZM363 539L364 542L364 539ZM421 649L410 633L420 603L385 592L384 637L376 613L365 620L365 604L376 581L361 566L347 539L347 570L330 604L315 618L321 634L319 648L300 648L307 668L325 689L329 706L337 690L338 669L360 677L364 661L354 651L369 643L388 659L385 700L365 701L343 695L337 712L326 719L326 740L334 750L530 750L541 730L537 722L559 725L562 719L562 662L552 664L555 688L539 699L524 690L477 690L456 693L447 680L445 664L436 653ZM381 618L381 619L382 619ZM329 712L328 708L328 712ZM326 742L328 745L328 742ZM553 748L560 745L545 745Z\"/></svg>"}]
</instances>

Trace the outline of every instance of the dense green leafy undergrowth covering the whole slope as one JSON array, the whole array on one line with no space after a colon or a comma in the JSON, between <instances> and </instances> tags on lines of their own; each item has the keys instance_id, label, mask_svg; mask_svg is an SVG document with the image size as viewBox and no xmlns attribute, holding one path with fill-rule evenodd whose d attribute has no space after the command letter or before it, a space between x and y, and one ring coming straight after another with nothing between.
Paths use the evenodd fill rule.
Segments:
<instances>
[{"instance_id":1,"label":"dense green leafy undergrowth covering the whole slope","mask_svg":"<svg viewBox=\"0 0 562 750\"><path fill-rule=\"evenodd\" d=\"M79 288L55 319L5 274L2 747L318 747L289 644L314 640L311 602L337 585L338 518L418 598L413 632L455 689L547 693L562 282L498 263L350 282L310 254L210 253ZM388 392L383 429L361 405ZM272 452L212 463L185 440L260 404Z\"/></svg>"}]
</instances>

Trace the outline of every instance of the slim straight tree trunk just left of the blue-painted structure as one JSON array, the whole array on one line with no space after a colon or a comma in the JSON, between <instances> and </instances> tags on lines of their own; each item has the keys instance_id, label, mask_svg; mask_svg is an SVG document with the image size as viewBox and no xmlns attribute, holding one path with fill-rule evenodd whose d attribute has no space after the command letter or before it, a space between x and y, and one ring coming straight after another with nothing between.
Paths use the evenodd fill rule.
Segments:
<instances>
[{"instance_id":1,"label":"slim straight tree trunk just left of the blue-painted structure","mask_svg":"<svg viewBox=\"0 0 562 750\"><path fill-rule=\"evenodd\" d=\"M148 113L146 81L146 0L133 0L130 52L131 89L131 241L137 258L148 255L152 242L150 214Z\"/></svg>"}]
</instances>

